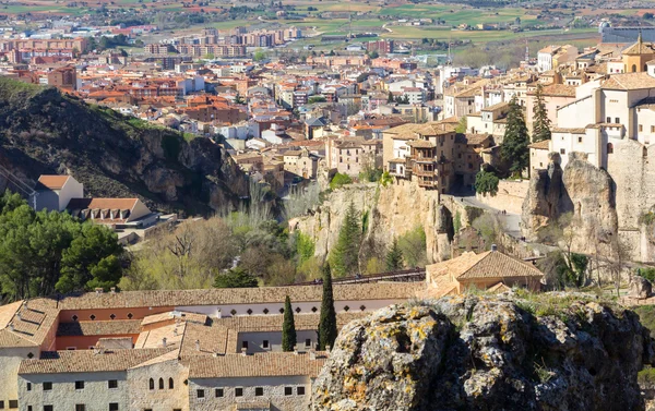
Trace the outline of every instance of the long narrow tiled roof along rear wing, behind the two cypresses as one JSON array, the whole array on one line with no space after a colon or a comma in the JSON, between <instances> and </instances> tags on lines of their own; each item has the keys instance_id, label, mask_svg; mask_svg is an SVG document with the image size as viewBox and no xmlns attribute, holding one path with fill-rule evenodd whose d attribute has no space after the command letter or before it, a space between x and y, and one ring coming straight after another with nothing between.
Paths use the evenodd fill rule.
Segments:
<instances>
[{"instance_id":1,"label":"long narrow tiled roof along rear wing, behind the two cypresses","mask_svg":"<svg viewBox=\"0 0 655 411\"><path fill-rule=\"evenodd\" d=\"M334 285L334 300L398 300L414 297L422 283ZM154 290L71 294L59 301L60 310L128 309L135 306L188 306L216 304L281 303L286 295L295 302L321 301L322 286L231 288L206 290Z\"/></svg>"}]
</instances>

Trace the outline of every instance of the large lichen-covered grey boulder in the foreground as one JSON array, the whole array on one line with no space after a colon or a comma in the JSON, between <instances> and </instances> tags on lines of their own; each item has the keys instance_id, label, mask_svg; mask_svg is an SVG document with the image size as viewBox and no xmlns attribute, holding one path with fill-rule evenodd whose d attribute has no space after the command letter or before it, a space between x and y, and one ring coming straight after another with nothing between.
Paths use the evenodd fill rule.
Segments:
<instances>
[{"instance_id":1,"label":"large lichen-covered grey boulder in the foreground","mask_svg":"<svg viewBox=\"0 0 655 411\"><path fill-rule=\"evenodd\" d=\"M312 391L327 410L643 410L639 316L582 294L451 297L344 327Z\"/></svg>"}]
</instances>

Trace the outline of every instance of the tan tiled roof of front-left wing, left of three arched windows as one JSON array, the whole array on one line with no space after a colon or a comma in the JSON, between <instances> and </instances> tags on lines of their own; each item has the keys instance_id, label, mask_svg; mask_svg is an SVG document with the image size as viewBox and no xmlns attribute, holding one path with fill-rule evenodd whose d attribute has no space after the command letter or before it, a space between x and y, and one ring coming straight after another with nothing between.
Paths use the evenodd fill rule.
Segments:
<instances>
[{"instance_id":1,"label":"tan tiled roof of front-left wing, left of three arched windows","mask_svg":"<svg viewBox=\"0 0 655 411\"><path fill-rule=\"evenodd\" d=\"M23 360L19 374L59 374L127 371L170 349L46 351L38 360Z\"/></svg>"}]
</instances>

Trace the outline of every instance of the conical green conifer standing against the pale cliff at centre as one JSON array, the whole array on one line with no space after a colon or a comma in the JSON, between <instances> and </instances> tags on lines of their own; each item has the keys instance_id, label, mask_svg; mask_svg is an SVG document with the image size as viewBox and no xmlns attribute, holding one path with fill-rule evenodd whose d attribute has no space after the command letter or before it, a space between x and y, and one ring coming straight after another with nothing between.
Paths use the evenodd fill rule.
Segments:
<instances>
[{"instance_id":1,"label":"conical green conifer standing against the pale cliff at centre","mask_svg":"<svg viewBox=\"0 0 655 411\"><path fill-rule=\"evenodd\" d=\"M359 218L359 213L350 202L338 232L336 245L330 255L330 264L334 268L336 277L357 274L359 268L359 247L361 245Z\"/></svg>"}]
</instances>

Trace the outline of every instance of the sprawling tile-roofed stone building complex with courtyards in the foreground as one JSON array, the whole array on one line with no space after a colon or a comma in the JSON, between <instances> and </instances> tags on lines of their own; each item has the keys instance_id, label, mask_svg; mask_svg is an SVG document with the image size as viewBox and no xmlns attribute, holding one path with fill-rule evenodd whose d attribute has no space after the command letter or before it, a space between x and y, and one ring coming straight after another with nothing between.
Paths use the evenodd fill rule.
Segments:
<instances>
[{"instance_id":1,"label":"sprawling tile-roofed stone building complex with courtyards in the foreground","mask_svg":"<svg viewBox=\"0 0 655 411\"><path fill-rule=\"evenodd\" d=\"M424 283L335 285L337 324ZM284 300L297 352L282 352ZM322 287L133 291L0 306L0 404L9 410L307 408Z\"/></svg>"}]
</instances>

